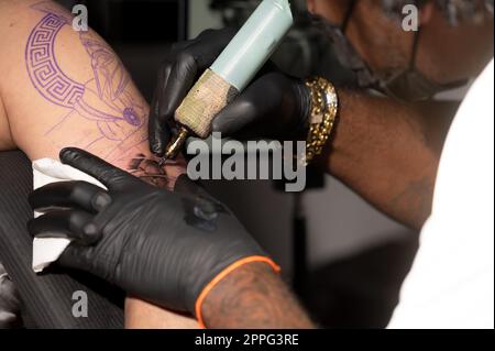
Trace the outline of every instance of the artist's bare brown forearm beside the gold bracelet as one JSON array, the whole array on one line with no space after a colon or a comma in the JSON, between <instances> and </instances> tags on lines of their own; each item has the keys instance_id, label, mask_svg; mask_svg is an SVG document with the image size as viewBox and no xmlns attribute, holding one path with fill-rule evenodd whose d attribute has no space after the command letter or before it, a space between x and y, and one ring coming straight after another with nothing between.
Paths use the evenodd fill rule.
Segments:
<instances>
[{"instance_id":1,"label":"artist's bare brown forearm beside the gold bracelet","mask_svg":"<svg viewBox=\"0 0 495 351\"><path fill-rule=\"evenodd\" d=\"M431 213L443 142L458 105L405 106L340 91L320 164L392 218L420 229Z\"/></svg>"}]
</instances>

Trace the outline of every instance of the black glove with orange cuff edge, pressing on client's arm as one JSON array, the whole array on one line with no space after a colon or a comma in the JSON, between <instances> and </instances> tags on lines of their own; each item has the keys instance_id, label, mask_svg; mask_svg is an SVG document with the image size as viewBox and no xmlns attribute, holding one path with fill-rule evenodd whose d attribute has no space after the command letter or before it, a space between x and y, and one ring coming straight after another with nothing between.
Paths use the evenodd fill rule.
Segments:
<instances>
[{"instance_id":1,"label":"black glove with orange cuff edge, pressing on client's arm","mask_svg":"<svg viewBox=\"0 0 495 351\"><path fill-rule=\"evenodd\" d=\"M276 267L229 209L186 176L169 193L81 150L66 149L61 160L108 187L55 183L30 196L32 208L45 212L29 222L33 237L74 239L59 259L63 266L193 314L200 311L207 286L233 264L258 261Z\"/></svg>"}]
</instances>

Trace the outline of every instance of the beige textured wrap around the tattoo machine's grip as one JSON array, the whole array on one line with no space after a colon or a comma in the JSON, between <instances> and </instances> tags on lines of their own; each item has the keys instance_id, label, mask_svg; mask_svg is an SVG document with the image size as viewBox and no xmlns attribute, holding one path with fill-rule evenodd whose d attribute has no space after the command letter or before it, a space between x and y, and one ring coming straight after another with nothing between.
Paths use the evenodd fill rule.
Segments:
<instances>
[{"instance_id":1,"label":"beige textured wrap around the tattoo machine's grip","mask_svg":"<svg viewBox=\"0 0 495 351\"><path fill-rule=\"evenodd\" d=\"M211 134L215 117L238 95L235 87L208 69L175 112L175 120L206 139Z\"/></svg>"}]
</instances>

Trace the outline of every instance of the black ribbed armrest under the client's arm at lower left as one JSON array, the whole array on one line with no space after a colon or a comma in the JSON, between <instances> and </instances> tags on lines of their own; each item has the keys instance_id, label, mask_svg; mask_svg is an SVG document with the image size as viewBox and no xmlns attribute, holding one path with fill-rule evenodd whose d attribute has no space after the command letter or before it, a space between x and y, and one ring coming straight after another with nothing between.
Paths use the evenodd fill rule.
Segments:
<instances>
[{"instance_id":1,"label":"black ribbed armrest under the client's arm at lower left","mask_svg":"<svg viewBox=\"0 0 495 351\"><path fill-rule=\"evenodd\" d=\"M79 272L31 268L32 239L25 223L33 213L28 195L33 187L31 162L22 152L0 152L0 262L21 296L28 328L123 327L123 292ZM73 316L75 292L88 296L88 317Z\"/></svg>"}]
</instances>

